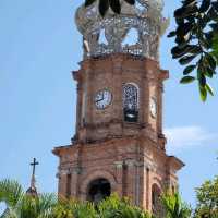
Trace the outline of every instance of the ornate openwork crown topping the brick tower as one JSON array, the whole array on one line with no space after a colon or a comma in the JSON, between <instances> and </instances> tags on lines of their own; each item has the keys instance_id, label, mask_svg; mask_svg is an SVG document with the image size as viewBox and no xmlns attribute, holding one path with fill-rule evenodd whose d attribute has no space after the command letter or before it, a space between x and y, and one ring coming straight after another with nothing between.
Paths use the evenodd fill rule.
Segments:
<instances>
[{"instance_id":1,"label":"ornate openwork crown topping the brick tower","mask_svg":"<svg viewBox=\"0 0 218 218\"><path fill-rule=\"evenodd\" d=\"M84 59L121 52L158 60L159 38L169 25L169 19L162 17L162 0L136 0L135 5L120 2L121 13L109 10L105 17L98 12L98 1L77 9Z\"/></svg>"}]
</instances>

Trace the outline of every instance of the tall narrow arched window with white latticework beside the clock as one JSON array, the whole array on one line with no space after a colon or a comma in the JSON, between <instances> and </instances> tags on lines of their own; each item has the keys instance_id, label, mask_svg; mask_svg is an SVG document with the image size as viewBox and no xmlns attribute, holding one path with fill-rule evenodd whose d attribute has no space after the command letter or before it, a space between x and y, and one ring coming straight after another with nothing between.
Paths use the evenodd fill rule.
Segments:
<instances>
[{"instance_id":1,"label":"tall narrow arched window with white latticework beside the clock","mask_svg":"<svg viewBox=\"0 0 218 218\"><path fill-rule=\"evenodd\" d=\"M124 121L137 122L138 119L138 88L129 83L123 86Z\"/></svg>"}]
</instances>

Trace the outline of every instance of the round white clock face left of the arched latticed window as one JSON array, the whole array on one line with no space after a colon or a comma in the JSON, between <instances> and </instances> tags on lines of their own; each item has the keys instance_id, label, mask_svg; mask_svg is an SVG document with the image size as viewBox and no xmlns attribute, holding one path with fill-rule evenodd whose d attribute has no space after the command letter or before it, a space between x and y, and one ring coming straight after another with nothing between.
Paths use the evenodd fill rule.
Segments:
<instances>
[{"instance_id":1,"label":"round white clock face left of the arched latticed window","mask_svg":"<svg viewBox=\"0 0 218 218\"><path fill-rule=\"evenodd\" d=\"M112 94L108 89L99 90L95 96L97 109L105 109L112 101Z\"/></svg>"}]
</instances>

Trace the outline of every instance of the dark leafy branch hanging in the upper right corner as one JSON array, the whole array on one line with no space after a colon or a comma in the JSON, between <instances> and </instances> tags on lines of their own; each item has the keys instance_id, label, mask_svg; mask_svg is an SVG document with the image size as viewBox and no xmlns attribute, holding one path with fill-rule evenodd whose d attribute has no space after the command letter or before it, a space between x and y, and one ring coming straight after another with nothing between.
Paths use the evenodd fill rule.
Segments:
<instances>
[{"instance_id":1,"label":"dark leafy branch hanging in the upper right corner","mask_svg":"<svg viewBox=\"0 0 218 218\"><path fill-rule=\"evenodd\" d=\"M174 37L175 46L171 49L172 58L185 65L183 75L196 69L196 76L185 76L181 83L198 81L203 101L207 93L214 95L208 78L216 74L218 65L218 1L183 0L182 7L174 11L177 29L168 37Z\"/></svg>"}]
</instances>

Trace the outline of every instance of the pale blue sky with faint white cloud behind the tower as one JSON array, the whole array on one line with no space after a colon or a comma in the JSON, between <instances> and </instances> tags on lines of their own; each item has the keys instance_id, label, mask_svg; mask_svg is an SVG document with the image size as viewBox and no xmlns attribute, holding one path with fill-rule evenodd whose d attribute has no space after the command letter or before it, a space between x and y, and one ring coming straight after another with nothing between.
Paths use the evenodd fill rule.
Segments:
<instances>
[{"instance_id":1,"label":"pale blue sky with faint white cloud behind the tower","mask_svg":"<svg viewBox=\"0 0 218 218\"><path fill-rule=\"evenodd\" d=\"M55 146L74 134L76 88L71 71L82 60L82 36L74 12L82 1L0 1L0 179L29 183L29 161L36 157L40 192L57 192ZM166 0L171 16L179 1ZM218 174L218 87L203 104L195 84L179 84L182 68L171 59L172 39L162 37L160 61L170 71L165 83L165 132L168 153L186 166L179 173L180 191L194 204L194 189Z\"/></svg>"}]
</instances>

